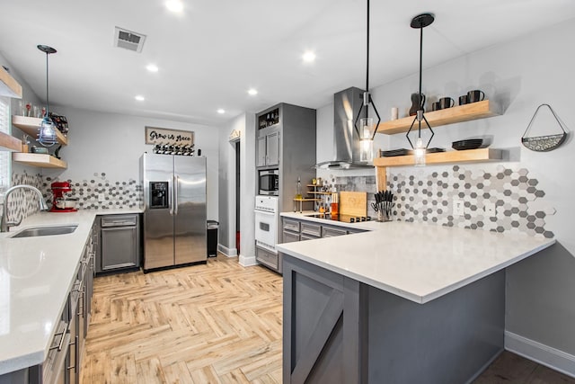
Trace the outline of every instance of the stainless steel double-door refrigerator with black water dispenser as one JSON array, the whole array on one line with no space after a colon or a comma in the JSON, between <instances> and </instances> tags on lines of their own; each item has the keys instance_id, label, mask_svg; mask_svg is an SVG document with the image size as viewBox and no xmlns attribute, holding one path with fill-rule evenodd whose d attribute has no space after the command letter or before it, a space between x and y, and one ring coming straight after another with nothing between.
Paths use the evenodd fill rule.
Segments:
<instances>
[{"instance_id":1,"label":"stainless steel double-door refrigerator with black water dispenser","mask_svg":"<svg viewBox=\"0 0 575 384\"><path fill-rule=\"evenodd\" d=\"M144 154L144 271L208 260L206 157Z\"/></svg>"}]
</instances>

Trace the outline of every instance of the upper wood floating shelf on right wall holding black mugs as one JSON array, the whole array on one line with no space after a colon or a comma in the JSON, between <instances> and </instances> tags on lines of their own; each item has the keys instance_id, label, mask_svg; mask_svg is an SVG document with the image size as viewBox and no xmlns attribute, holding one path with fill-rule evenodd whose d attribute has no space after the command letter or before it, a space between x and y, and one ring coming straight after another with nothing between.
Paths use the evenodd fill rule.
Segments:
<instances>
[{"instance_id":1,"label":"upper wood floating shelf on right wall holding black mugs","mask_svg":"<svg viewBox=\"0 0 575 384\"><path fill-rule=\"evenodd\" d=\"M497 103L494 103L491 100L484 100L482 102L446 108L445 110L425 112L425 118L428 120L431 128L435 129L442 125L485 119L492 116L499 116L500 114L500 107ZM415 119L415 116L380 122L379 127L377 128L377 133L393 135L395 133L407 132L411 127L413 119ZM413 127L416 128L415 125ZM423 128L423 125L421 125L421 128ZM427 129L427 126L425 128Z\"/></svg>"}]
</instances>

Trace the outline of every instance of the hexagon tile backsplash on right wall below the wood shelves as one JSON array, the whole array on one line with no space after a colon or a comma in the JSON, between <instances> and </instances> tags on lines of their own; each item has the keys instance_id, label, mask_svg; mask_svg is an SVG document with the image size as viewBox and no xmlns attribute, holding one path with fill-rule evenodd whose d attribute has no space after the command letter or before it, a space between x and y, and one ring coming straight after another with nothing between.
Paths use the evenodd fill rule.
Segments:
<instances>
[{"instance_id":1,"label":"hexagon tile backsplash on right wall below the wood shelves","mask_svg":"<svg viewBox=\"0 0 575 384\"><path fill-rule=\"evenodd\" d=\"M326 182L337 191L367 191L367 215L375 216L375 176L330 176ZM555 210L538 184L519 165L388 168L387 176L395 219L553 237L545 218ZM453 215L454 199L463 201L463 216Z\"/></svg>"}]
</instances>

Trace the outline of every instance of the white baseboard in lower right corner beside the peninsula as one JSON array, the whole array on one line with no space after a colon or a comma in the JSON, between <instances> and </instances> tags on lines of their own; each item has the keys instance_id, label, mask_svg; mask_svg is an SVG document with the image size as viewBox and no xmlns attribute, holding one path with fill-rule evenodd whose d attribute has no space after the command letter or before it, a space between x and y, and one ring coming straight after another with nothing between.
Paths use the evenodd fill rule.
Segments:
<instances>
[{"instance_id":1,"label":"white baseboard in lower right corner beside the peninsula","mask_svg":"<svg viewBox=\"0 0 575 384\"><path fill-rule=\"evenodd\" d=\"M575 356L505 331L505 349L575 378Z\"/></svg>"}]
</instances>

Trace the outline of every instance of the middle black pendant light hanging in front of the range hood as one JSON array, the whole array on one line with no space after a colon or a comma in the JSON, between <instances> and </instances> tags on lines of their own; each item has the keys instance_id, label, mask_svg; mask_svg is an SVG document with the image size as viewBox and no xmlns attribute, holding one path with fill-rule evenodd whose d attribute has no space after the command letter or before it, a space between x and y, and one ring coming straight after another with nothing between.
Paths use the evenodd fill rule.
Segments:
<instances>
[{"instance_id":1,"label":"middle black pendant light hanging in front of the range hood","mask_svg":"<svg viewBox=\"0 0 575 384\"><path fill-rule=\"evenodd\" d=\"M367 0L367 49L366 49L366 90L363 93L363 104L358 111L358 116L356 117L356 121L354 123L356 127L356 132L358 132L359 136L359 161L370 163L374 159L374 138L376 137L377 127L381 122L381 118L379 117L379 113L377 112L376 104L371 98L371 94L369 94L369 0ZM374 119L368 117L368 107L369 104L374 109L377 117L377 123L374 124ZM361 116L361 112L365 109L365 118L359 119ZM358 125L359 121L359 125Z\"/></svg>"}]
</instances>

